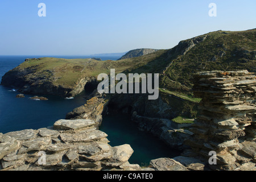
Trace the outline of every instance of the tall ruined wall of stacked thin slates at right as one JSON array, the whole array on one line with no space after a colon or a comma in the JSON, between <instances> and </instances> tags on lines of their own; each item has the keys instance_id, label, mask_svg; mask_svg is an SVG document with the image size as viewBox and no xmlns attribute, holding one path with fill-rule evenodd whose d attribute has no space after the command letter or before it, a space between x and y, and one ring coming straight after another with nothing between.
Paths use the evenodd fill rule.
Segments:
<instances>
[{"instance_id":1,"label":"tall ruined wall of stacked thin slates at right","mask_svg":"<svg viewBox=\"0 0 256 182\"><path fill-rule=\"evenodd\" d=\"M247 71L200 72L193 92L203 98L200 115L185 143L203 156L216 152L221 170L256 170L256 76Z\"/></svg>"}]
</instances>

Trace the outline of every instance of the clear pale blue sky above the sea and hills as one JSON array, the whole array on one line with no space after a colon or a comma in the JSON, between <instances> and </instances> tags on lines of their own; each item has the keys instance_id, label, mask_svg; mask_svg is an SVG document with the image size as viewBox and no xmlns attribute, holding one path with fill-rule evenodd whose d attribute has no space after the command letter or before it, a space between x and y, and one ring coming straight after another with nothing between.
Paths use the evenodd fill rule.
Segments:
<instances>
[{"instance_id":1,"label":"clear pale blue sky above the sea and hills","mask_svg":"<svg viewBox=\"0 0 256 182\"><path fill-rule=\"evenodd\" d=\"M39 17L39 3L46 17ZM208 7L216 3L217 16ZM1 0L0 55L168 49L211 31L256 28L255 0Z\"/></svg>"}]
</instances>

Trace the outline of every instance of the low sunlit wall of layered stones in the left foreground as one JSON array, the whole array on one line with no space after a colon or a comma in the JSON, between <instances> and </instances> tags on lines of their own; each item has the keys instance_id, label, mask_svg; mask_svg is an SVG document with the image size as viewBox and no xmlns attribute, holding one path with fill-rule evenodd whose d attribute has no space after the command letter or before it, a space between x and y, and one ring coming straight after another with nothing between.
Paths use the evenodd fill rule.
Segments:
<instances>
[{"instance_id":1,"label":"low sunlit wall of layered stones in the left foreground","mask_svg":"<svg viewBox=\"0 0 256 182\"><path fill-rule=\"evenodd\" d=\"M141 170L128 162L129 144L110 146L93 120L59 120L54 127L0 134L1 170Z\"/></svg>"}]
</instances>

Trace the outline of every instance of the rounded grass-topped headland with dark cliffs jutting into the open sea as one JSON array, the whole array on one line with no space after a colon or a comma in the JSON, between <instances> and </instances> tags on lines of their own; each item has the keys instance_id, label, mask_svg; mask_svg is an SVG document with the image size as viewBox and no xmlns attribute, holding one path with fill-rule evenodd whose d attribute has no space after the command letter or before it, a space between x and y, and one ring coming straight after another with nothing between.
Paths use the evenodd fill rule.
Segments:
<instances>
[{"instance_id":1,"label":"rounded grass-topped headland with dark cliffs jutting into the open sea","mask_svg":"<svg viewBox=\"0 0 256 182\"><path fill-rule=\"evenodd\" d=\"M85 67L85 63L77 65L71 61L68 67L68 60L59 59L59 63L61 61L63 63L59 67L54 67L53 65L59 63L52 61L52 59L26 59L24 63L5 73L1 85L10 86L26 94L73 97L84 91L86 84L97 82L93 76L82 77L82 71L85 69L82 66ZM87 64L90 64L89 61ZM68 75L71 79L68 78ZM60 81L61 79L63 81Z\"/></svg>"}]
</instances>

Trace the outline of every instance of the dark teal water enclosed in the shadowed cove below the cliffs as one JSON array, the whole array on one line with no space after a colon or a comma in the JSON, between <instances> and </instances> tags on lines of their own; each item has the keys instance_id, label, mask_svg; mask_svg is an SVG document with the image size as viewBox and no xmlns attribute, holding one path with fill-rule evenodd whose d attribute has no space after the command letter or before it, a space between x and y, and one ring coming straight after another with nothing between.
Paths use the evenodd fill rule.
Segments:
<instances>
[{"instance_id":1,"label":"dark teal water enclosed in the shadowed cove below the cliffs","mask_svg":"<svg viewBox=\"0 0 256 182\"><path fill-rule=\"evenodd\" d=\"M148 166L150 160L158 158L174 158L180 151L168 147L162 140L137 128L129 115L107 115L102 121L100 130L107 133L111 146L130 144L134 150L129 162Z\"/></svg>"}]
</instances>

